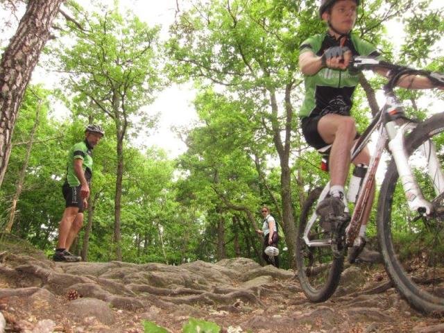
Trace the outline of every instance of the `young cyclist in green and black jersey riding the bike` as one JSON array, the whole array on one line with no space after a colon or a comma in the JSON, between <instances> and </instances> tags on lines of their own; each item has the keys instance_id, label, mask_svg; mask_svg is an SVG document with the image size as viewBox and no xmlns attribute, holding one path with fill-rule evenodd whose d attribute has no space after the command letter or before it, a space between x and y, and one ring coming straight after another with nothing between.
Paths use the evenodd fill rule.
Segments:
<instances>
[{"instance_id":1,"label":"young cyclist in green and black jersey riding the bike","mask_svg":"<svg viewBox=\"0 0 444 333\"><path fill-rule=\"evenodd\" d=\"M319 15L327 23L328 29L323 34L309 37L300 45L299 65L305 75L306 89L299 112L302 133L307 143L316 149L332 145L329 160L330 194L318 205L316 212L320 216L337 216L344 210L342 199L350 168L350 151L359 136L355 119L350 117L352 94L359 83L359 76L350 72L348 65L352 56L380 56L375 46L351 33L359 2L322 0ZM377 72L389 75L384 69ZM428 78L422 76L406 76L400 80L399 86L413 89L434 87ZM352 162L368 165L368 148L364 148ZM355 240L355 249L352 250L364 242L366 223L375 195L374 187L372 191L359 237ZM350 260L354 261L354 258Z\"/></svg>"}]
</instances>

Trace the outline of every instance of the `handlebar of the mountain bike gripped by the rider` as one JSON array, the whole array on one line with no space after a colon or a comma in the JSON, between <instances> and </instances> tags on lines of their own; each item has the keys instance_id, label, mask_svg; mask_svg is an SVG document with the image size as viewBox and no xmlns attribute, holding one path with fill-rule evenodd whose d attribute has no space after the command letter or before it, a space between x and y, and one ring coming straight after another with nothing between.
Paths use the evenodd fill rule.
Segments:
<instances>
[{"instance_id":1,"label":"handlebar of the mountain bike gripped by the rider","mask_svg":"<svg viewBox=\"0 0 444 333\"><path fill-rule=\"evenodd\" d=\"M388 87L393 88L403 75L422 75L429 78L436 86L444 86L444 74L438 72L425 71L422 69L413 69L406 66L394 65L384 60L378 60L373 57L356 56L352 58L350 69L359 71L366 69L388 69L390 77Z\"/></svg>"}]
</instances>

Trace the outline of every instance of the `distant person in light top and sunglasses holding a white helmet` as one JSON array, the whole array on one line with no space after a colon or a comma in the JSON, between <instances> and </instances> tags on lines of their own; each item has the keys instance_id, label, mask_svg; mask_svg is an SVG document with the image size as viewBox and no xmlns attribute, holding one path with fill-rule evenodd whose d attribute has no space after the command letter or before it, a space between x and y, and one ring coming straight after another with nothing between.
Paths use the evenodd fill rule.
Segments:
<instances>
[{"instance_id":1,"label":"distant person in light top and sunglasses holding a white helmet","mask_svg":"<svg viewBox=\"0 0 444 333\"><path fill-rule=\"evenodd\" d=\"M278 250L278 225L267 206L261 208L261 214L264 218L262 230L256 230L258 234L264 235L264 246L262 257L268 264L279 268L279 250Z\"/></svg>"}]
</instances>

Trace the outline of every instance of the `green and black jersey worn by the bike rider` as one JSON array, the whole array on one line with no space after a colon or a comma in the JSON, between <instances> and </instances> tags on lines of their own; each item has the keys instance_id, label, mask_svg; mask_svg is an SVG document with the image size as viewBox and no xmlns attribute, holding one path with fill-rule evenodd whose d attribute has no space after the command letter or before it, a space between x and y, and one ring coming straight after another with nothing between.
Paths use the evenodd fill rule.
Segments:
<instances>
[{"instance_id":1,"label":"green and black jersey worn by the bike rider","mask_svg":"<svg viewBox=\"0 0 444 333\"><path fill-rule=\"evenodd\" d=\"M300 53L312 51L316 56L322 56L324 51L332 46L339 46L339 40L329 33L323 33L302 42ZM355 34L347 35L343 46L347 46L353 56L379 57L375 46ZM350 115L352 94L358 83L358 74L348 69L324 67L314 75L305 76L305 99L299 117L316 117L329 113Z\"/></svg>"}]
</instances>

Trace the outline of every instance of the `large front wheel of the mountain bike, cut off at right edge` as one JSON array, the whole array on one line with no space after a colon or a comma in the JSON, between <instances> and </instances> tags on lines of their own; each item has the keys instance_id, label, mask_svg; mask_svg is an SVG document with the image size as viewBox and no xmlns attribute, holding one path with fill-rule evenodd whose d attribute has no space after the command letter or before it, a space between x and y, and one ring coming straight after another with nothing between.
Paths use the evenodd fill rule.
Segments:
<instances>
[{"instance_id":1,"label":"large front wheel of the mountain bike, cut off at right edge","mask_svg":"<svg viewBox=\"0 0 444 333\"><path fill-rule=\"evenodd\" d=\"M438 165L427 165L424 147L434 143ZM395 162L379 194L377 234L386 271L411 306L425 313L444 312L444 195L436 194L438 168L444 167L444 114L420 123L407 136L409 165L422 195L434 204L428 219L411 212ZM432 172L430 172L432 171ZM441 178L442 180L442 178ZM434 184L435 183L435 184ZM443 188L443 186L440 186Z\"/></svg>"}]
</instances>

